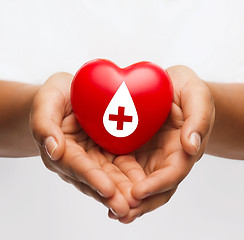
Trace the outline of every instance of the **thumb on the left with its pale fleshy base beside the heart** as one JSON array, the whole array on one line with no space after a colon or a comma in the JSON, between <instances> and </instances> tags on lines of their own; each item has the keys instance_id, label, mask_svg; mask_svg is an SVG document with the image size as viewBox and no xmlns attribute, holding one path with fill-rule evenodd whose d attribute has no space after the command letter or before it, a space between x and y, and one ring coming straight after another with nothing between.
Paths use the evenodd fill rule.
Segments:
<instances>
[{"instance_id":1,"label":"thumb on the left with its pale fleshy base beside the heart","mask_svg":"<svg viewBox=\"0 0 244 240\"><path fill-rule=\"evenodd\" d=\"M65 149L65 139L60 126L67 110L67 86L71 80L70 74L51 76L37 93L32 105L30 127L33 136L39 147L45 147L52 160L58 160ZM65 91L68 93L64 93Z\"/></svg>"}]
</instances>

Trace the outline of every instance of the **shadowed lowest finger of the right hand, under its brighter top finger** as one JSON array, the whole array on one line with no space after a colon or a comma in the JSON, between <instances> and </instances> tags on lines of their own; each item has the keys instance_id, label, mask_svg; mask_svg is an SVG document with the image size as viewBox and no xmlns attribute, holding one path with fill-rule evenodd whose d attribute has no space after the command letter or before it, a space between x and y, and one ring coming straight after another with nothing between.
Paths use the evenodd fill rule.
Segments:
<instances>
[{"instance_id":1,"label":"shadowed lowest finger of the right hand, under its brighter top finger","mask_svg":"<svg viewBox=\"0 0 244 240\"><path fill-rule=\"evenodd\" d=\"M161 206L163 206L164 204L166 204L170 198L172 197L172 195L175 193L176 188L164 192L164 193L160 193L151 197L148 197L146 199L143 200L143 202L140 204L139 207L131 209L129 214L127 214L124 217L119 217L117 218L121 223L131 223L133 222L135 219L141 217L142 215L144 215L145 213L151 212ZM111 213L109 214L111 216L111 218L113 217L111 215Z\"/></svg>"}]
</instances>

